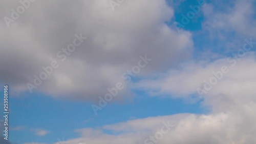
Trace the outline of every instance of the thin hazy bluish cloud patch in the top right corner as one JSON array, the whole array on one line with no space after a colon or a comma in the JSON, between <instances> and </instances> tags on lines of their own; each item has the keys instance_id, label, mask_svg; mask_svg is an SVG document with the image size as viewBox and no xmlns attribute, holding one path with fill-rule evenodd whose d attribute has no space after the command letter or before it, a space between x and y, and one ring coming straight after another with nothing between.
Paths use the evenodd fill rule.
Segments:
<instances>
[{"instance_id":1,"label":"thin hazy bluish cloud patch in the top right corner","mask_svg":"<svg viewBox=\"0 0 256 144\"><path fill-rule=\"evenodd\" d=\"M212 49L230 52L242 45L245 38L256 38L254 2L251 0L211 1L203 8L202 33L212 42ZM211 47L206 45L206 47Z\"/></svg>"}]
</instances>

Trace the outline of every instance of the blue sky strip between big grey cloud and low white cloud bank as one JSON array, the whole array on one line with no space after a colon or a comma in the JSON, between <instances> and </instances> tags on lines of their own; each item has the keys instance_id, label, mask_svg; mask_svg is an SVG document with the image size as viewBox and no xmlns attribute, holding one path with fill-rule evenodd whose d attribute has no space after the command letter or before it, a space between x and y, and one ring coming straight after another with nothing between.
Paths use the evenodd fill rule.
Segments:
<instances>
[{"instance_id":1,"label":"blue sky strip between big grey cloud and low white cloud bank","mask_svg":"<svg viewBox=\"0 0 256 144\"><path fill-rule=\"evenodd\" d=\"M108 105L97 116L91 104L85 101L58 100L44 94L10 98L11 128L24 126L22 130L11 131L10 138L25 143L32 135L32 141L53 143L57 138L76 138L78 134L74 130L83 127L97 128L130 119L177 113L207 113L200 101L190 104L182 99L148 98L144 93L139 95L131 104ZM36 136L31 129L46 129L50 133Z\"/></svg>"}]
</instances>

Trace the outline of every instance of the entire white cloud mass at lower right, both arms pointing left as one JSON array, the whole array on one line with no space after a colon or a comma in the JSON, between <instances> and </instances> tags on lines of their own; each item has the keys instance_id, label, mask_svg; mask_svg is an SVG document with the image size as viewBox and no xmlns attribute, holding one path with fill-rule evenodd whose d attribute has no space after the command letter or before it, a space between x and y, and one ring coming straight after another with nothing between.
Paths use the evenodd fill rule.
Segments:
<instances>
[{"instance_id":1,"label":"entire white cloud mass at lower right, both arms pointing left","mask_svg":"<svg viewBox=\"0 0 256 144\"><path fill-rule=\"evenodd\" d=\"M67 140L67 143L144 143L146 138L160 131L162 122L167 120L175 127L163 138L155 139L157 143L253 143L256 141L255 54L249 52L233 67L232 64L234 63L229 63L226 58L206 63L187 63L179 70L170 71L169 75L138 84L149 93L164 93L187 99L191 94L197 93L197 88L204 79L212 77L212 71L220 71L221 67L227 66L228 73L205 94L202 101L202 105L211 109L208 114L148 117L95 129L79 129L76 132L80 133L80 138Z\"/></svg>"}]
</instances>

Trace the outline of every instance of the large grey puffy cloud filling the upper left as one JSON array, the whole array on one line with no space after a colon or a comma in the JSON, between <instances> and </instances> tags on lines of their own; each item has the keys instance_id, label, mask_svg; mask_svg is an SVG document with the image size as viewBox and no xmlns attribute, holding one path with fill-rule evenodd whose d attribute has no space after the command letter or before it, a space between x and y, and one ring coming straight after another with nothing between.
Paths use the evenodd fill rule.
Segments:
<instances>
[{"instance_id":1,"label":"large grey puffy cloud filling the upper left","mask_svg":"<svg viewBox=\"0 0 256 144\"><path fill-rule=\"evenodd\" d=\"M9 17L10 9L20 5L1 3L5 6L1 16ZM10 28L1 19L0 61L8 64L1 62L5 70L0 81L17 92L28 91L26 84L33 84L33 75L57 60L59 68L33 91L96 100L117 82L125 84L122 74L137 65L140 55L154 60L138 76L166 70L190 56L191 34L165 24L173 16L164 0L126 1L116 11L108 1L36 1ZM80 33L87 39L60 61L57 52Z\"/></svg>"}]
</instances>

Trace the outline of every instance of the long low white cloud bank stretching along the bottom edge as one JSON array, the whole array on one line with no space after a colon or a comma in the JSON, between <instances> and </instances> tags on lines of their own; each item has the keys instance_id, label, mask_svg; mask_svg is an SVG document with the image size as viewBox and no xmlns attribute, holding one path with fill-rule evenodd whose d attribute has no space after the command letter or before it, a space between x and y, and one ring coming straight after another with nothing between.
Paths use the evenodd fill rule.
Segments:
<instances>
[{"instance_id":1,"label":"long low white cloud bank stretching along the bottom edge","mask_svg":"<svg viewBox=\"0 0 256 144\"><path fill-rule=\"evenodd\" d=\"M253 105L251 107L252 109L240 107L242 109L239 111L236 109L228 113L220 112L209 115L177 114L172 116L149 117L103 126L98 129L80 129L76 130L76 132L80 133L80 138L70 139L65 141L65 143L152 144L154 140L157 141L155 143L160 144L251 143L255 141L254 135L256 133L255 122L253 122L256 117L252 112L256 108L255 106ZM161 139L156 138L156 133L161 131L163 122L167 123L167 121L169 121L169 124L174 125L174 127L170 128L168 133L164 134ZM131 131L132 129L134 131ZM104 133L104 130L111 130L113 134ZM165 127L166 130L167 127ZM155 137L154 140L148 140L151 136Z\"/></svg>"}]
</instances>

